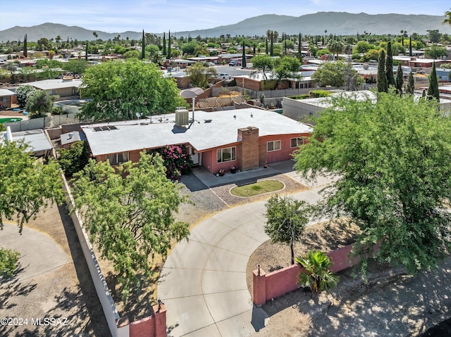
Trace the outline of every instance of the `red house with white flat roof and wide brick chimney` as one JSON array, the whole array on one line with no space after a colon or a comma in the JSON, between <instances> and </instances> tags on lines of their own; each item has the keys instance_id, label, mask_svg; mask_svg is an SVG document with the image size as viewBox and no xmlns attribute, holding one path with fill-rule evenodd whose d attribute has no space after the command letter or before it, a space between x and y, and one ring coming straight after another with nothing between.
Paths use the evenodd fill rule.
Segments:
<instances>
[{"instance_id":1,"label":"red house with white flat roof and wide brick chimney","mask_svg":"<svg viewBox=\"0 0 451 337\"><path fill-rule=\"evenodd\" d=\"M136 162L143 149L184 144L194 165L202 165L213 174L220 169L228 171L232 165L251 170L288 160L303 144L303 137L312 132L308 125L256 108L213 113L180 110L139 122L83 125L81 129L97 161L109 160L112 165Z\"/></svg>"}]
</instances>

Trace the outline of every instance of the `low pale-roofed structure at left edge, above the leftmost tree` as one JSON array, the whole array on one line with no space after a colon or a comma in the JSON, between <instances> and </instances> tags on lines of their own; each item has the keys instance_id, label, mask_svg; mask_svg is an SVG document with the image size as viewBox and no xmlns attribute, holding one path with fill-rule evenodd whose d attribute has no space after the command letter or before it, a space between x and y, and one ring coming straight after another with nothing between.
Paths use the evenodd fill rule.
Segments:
<instances>
[{"instance_id":1,"label":"low pale-roofed structure at left edge, above the leftmost tree","mask_svg":"<svg viewBox=\"0 0 451 337\"><path fill-rule=\"evenodd\" d=\"M42 129L11 132L11 127L6 127L6 132L4 132L2 139L4 141L23 141L25 144L28 144L30 151L35 157L47 158L53 150L51 141Z\"/></svg>"}]
</instances>

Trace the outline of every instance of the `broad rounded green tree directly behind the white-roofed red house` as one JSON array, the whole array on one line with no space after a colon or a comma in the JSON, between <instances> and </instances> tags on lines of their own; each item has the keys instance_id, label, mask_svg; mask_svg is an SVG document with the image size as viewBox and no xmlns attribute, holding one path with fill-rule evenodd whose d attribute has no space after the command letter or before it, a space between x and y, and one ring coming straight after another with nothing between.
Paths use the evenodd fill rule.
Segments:
<instances>
[{"instance_id":1,"label":"broad rounded green tree directly behind the white-roofed red house","mask_svg":"<svg viewBox=\"0 0 451 337\"><path fill-rule=\"evenodd\" d=\"M80 116L94 120L132 120L136 113L168 113L184 104L172 79L135 58L88 68L80 91L83 98L92 98Z\"/></svg>"}]
</instances>

